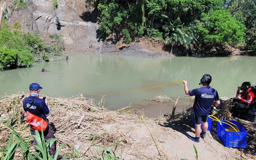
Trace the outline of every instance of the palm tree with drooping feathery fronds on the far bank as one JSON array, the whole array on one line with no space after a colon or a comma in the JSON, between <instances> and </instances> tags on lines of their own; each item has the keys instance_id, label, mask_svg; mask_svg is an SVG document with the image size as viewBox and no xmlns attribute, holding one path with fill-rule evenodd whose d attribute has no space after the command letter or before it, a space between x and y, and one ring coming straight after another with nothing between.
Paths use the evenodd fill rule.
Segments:
<instances>
[{"instance_id":1,"label":"palm tree with drooping feathery fronds on the far bank","mask_svg":"<svg viewBox=\"0 0 256 160\"><path fill-rule=\"evenodd\" d=\"M174 22L171 20L163 26L166 32L165 40L167 45L182 45L184 48L193 48L197 41L196 26L194 24L184 25L178 17ZM171 49L172 54L172 49Z\"/></svg>"}]
</instances>

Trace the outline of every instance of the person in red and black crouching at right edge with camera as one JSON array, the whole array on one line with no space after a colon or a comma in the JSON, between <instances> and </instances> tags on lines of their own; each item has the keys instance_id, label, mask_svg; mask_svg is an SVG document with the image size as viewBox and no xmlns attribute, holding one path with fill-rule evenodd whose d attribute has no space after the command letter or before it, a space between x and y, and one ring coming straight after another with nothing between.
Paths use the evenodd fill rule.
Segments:
<instances>
[{"instance_id":1,"label":"person in red and black crouching at right edge with camera","mask_svg":"<svg viewBox=\"0 0 256 160\"><path fill-rule=\"evenodd\" d=\"M240 90L242 92L240 92ZM233 99L233 103L235 104L233 111L239 111L239 110L249 110L250 104L253 101L254 94L251 92L251 82L243 82L243 84L240 87L237 87L236 91L236 98Z\"/></svg>"}]
</instances>

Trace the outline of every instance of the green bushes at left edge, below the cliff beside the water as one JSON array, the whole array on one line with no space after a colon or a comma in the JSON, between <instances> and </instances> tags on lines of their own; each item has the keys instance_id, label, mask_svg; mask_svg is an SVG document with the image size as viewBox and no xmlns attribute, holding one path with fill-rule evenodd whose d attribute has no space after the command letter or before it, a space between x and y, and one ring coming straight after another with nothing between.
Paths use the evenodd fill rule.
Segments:
<instances>
[{"instance_id":1,"label":"green bushes at left edge, below the cliff beside the water","mask_svg":"<svg viewBox=\"0 0 256 160\"><path fill-rule=\"evenodd\" d=\"M49 61L50 55L59 55L64 48L60 35L54 34L53 45L47 45L37 33L23 33L21 25L15 22L12 31L5 22L0 29L0 69L28 67L38 61Z\"/></svg>"}]
</instances>

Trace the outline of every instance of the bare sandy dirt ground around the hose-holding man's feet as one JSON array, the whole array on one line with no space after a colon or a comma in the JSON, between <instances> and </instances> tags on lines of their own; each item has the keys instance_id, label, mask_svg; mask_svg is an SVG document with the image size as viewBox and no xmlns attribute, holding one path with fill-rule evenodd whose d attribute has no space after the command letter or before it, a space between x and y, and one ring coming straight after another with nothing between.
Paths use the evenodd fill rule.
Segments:
<instances>
[{"instance_id":1,"label":"bare sandy dirt ground around the hose-holding man's feet","mask_svg":"<svg viewBox=\"0 0 256 160\"><path fill-rule=\"evenodd\" d=\"M195 144L198 159L243 159L239 149L224 147L214 132L207 131L206 137L200 138L200 143L195 143L188 139L189 135L195 136L195 129L187 125L149 119L145 124L129 121L108 126L108 129L123 129L133 138L131 144L121 147L122 152L119 148L118 155L122 154L124 159L195 159ZM149 131L159 147L156 147ZM164 154L168 157L164 157Z\"/></svg>"}]
</instances>

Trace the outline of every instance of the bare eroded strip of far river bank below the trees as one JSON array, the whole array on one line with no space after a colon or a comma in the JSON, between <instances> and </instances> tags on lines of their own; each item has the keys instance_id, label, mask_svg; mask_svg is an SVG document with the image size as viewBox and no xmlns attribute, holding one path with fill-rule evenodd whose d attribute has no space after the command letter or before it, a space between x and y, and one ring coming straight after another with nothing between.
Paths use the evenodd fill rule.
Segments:
<instances>
[{"instance_id":1,"label":"bare eroded strip of far river bank below the trees","mask_svg":"<svg viewBox=\"0 0 256 160\"><path fill-rule=\"evenodd\" d=\"M66 53L102 53L113 55L124 55L133 57L175 57L175 56L192 56L192 57L218 57L218 56L235 56L235 55L256 55L255 52L241 51L229 45L205 45L197 44L193 49L186 50L179 46L172 49L166 46L162 40L150 38L140 38L137 42L123 44L122 42L104 41L94 44L91 47L84 47L84 44L74 43L66 46Z\"/></svg>"}]
</instances>

